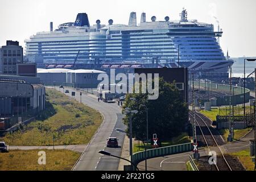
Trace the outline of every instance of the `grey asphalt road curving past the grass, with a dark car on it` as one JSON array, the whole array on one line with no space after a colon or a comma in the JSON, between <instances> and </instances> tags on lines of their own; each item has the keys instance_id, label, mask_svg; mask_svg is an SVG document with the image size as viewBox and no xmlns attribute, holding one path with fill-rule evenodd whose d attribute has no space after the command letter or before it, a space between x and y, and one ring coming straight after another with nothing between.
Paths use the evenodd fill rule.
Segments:
<instances>
[{"instance_id":1,"label":"grey asphalt road curving past the grass, with a dark car on it","mask_svg":"<svg viewBox=\"0 0 256 182\"><path fill-rule=\"evenodd\" d=\"M59 88L56 88L59 90ZM69 93L66 93L71 97L71 92L75 89L69 89ZM80 91L76 91L75 99L80 102ZM100 150L111 152L113 155L121 156L123 146L123 140L125 138L124 133L118 133L116 128L125 129L125 125L122 123L121 108L117 104L108 104L105 102L98 102L95 95L82 94L82 103L100 111L104 116L104 121L100 129L94 135L91 142L86 147L86 150L81 155L79 162L73 168L75 171L93 171L93 170L118 170L119 159L110 156L103 156L98 153ZM106 140L109 137L117 137L119 148L106 147Z\"/></svg>"}]
</instances>

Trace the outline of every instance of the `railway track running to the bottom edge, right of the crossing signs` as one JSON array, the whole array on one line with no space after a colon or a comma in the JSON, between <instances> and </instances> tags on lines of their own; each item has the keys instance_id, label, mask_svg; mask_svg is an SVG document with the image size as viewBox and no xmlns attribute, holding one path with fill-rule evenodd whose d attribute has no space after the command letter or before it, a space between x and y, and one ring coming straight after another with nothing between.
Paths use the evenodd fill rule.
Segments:
<instances>
[{"instance_id":1,"label":"railway track running to the bottom edge, right of the crossing signs","mask_svg":"<svg viewBox=\"0 0 256 182\"><path fill-rule=\"evenodd\" d=\"M193 117L191 113L189 113L190 117ZM205 122L203 117L199 115L198 113L195 113L196 118L196 125L197 125L197 131L200 131L201 137L203 137L204 142L210 151L216 151L217 153L217 161L215 162L214 166L217 171L232 171L232 168L230 167L228 161L226 160L219 143L217 142L216 138L212 134L212 131L209 128L209 123ZM192 121L192 120L191 120ZM210 164L209 164L210 167Z\"/></svg>"}]
</instances>

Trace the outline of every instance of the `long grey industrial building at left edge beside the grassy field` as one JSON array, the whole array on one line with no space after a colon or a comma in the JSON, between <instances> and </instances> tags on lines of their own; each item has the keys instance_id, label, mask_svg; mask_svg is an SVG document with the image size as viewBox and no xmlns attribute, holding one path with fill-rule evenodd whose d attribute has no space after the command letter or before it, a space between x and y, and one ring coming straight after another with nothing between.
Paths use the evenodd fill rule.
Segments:
<instances>
[{"instance_id":1,"label":"long grey industrial building at left edge beside the grassy field","mask_svg":"<svg viewBox=\"0 0 256 182\"><path fill-rule=\"evenodd\" d=\"M39 77L0 75L0 133L15 130L46 108Z\"/></svg>"}]
</instances>

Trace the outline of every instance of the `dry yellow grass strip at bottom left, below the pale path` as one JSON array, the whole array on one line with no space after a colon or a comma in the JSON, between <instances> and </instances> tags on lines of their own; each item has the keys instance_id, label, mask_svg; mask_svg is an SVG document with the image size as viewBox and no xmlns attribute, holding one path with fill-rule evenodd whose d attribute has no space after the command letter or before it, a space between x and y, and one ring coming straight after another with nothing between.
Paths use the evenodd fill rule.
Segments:
<instances>
[{"instance_id":1,"label":"dry yellow grass strip at bottom left, below the pale path","mask_svg":"<svg viewBox=\"0 0 256 182\"><path fill-rule=\"evenodd\" d=\"M80 156L79 152L69 150L44 150L46 152L46 165L39 165L39 151L14 150L7 153L0 153L0 171L71 170Z\"/></svg>"}]
</instances>

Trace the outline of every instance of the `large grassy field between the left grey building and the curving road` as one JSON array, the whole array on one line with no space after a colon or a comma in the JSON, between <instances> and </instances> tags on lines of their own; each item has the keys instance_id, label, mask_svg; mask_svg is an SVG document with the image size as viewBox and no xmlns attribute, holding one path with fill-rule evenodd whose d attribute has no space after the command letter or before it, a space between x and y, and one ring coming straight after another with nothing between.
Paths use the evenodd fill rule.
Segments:
<instances>
[{"instance_id":1,"label":"large grassy field between the left grey building and the curving road","mask_svg":"<svg viewBox=\"0 0 256 182\"><path fill-rule=\"evenodd\" d=\"M0 140L10 146L49 146L86 144L101 125L98 111L69 100L68 96L55 90L46 90L47 109L35 122L20 127Z\"/></svg>"}]
</instances>

